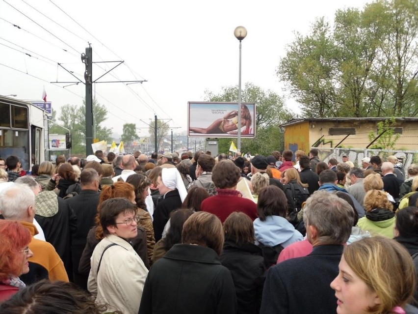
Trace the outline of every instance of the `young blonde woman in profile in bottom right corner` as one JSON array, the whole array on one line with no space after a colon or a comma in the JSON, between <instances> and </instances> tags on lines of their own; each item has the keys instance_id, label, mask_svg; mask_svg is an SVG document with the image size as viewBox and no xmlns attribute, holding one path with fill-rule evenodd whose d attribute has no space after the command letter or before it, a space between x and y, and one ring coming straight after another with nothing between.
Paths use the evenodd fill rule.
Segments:
<instances>
[{"instance_id":1,"label":"young blonde woman in profile in bottom right corner","mask_svg":"<svg viewBox=\"0 0 418 314\"><path fill-rule=\"evenodd\" d=\"M331 283L338 314L405 314L416 289L408 252L381 236L344 247L339 275Z\"/></svg>"}]
</instances>

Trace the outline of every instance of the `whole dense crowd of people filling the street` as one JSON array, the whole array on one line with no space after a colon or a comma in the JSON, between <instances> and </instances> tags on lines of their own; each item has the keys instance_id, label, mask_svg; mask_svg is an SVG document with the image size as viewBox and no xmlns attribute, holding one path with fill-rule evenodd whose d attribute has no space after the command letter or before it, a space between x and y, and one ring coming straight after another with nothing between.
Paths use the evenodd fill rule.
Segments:
<instances>
[{"instance_id":1,"label":"whole dense crowd of people filling the street","mask_svg":"<svg viewBox=\"0 0 418 314\"><path fill-rule=\"evenodd\" d=\"M337 158L0 158L0 314L418 313L418 165Z\"/></svg>"}]
</instances>

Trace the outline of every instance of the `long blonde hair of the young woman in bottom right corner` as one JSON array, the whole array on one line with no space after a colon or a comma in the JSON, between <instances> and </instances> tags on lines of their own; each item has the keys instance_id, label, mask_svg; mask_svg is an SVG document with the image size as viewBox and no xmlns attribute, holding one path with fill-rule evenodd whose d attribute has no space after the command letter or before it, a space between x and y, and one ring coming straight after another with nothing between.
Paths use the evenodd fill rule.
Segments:
<instances>
[{"instance_id":1,"label":"long blonde hair of the young woman in bottom right corner","mask_svg":"<svg viewBox=\"0 0 418 314\"><path fill-rule=\"evenodd\" d=\"M343 257L352 271L380 299L368 313L392 313L404 307L416 289L415 266L406 249L382 236L363 238L344 247Z\"/></svg>"}]
</instances>

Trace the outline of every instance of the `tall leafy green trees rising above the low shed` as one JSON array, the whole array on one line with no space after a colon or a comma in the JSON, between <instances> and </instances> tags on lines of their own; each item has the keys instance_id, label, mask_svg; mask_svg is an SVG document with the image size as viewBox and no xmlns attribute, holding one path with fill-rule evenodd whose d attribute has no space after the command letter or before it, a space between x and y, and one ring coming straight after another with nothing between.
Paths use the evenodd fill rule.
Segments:
<instances>
[{"instance_id":1,"label":"tall leafy green trees rising above the low shed","mask_svg":"<svg viewBox=\"0 0 418 314\"><path fill-rule=\"evenodd\" d=\"M304 116L418 114L418 0L338 10L296 33L277 75Z\"/></svg>"}]
</instances>

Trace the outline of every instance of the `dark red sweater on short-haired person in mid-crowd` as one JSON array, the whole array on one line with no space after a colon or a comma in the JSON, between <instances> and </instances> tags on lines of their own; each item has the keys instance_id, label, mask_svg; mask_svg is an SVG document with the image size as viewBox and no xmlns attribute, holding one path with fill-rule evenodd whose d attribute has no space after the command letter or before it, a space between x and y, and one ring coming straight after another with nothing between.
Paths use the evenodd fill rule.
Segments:
<instances>
[{"instance_id":1,"label":"dark red sweater on short-haired person in mid-crowd","mask_svg":"<svg viewBox=\"0 0 418 314\"><path fill-rule=\"evenodd\" d=\"M202 201L202 211L218 216L222 223L235 211L247 214L252 220L258 217L257 204L243 198L238 191L229 189L216 189L216 191L217 195Z\"/></svg>"}]
</instances>

